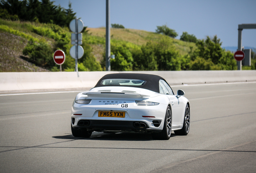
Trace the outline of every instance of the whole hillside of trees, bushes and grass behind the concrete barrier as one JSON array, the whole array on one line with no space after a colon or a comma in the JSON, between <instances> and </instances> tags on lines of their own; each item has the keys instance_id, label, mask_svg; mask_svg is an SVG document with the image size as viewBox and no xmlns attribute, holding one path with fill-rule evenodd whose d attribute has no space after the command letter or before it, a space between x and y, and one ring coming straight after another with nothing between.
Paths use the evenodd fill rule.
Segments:
<instances>
[{"instance_id":1,"label":"whole hillside of trees, bushes and grass behind the concrete barrier","mask_svg":"<svg viewBox=\"0 0 256 173\"><path fill-rule=\"evenodd\" d=\"M22 10L15 11L17 5L29 11L30 16L23 15ZM53 12L40 11L43 7ZM33 13L35 9L37 14ZM41 18L42 14L45 18ZM68 24L75 14L71 3L64 9L50 0L0 0L0 72L59 71L60 66L53 61L53 53L58 49L66 54L62 70L74 71ZM156 26L156 32L127 29L121 24L111 26L111 55L115 55L111 70L237 69L233 54L221 48L217 36L198 40L193 34L183 32L178 40L175 39L178 33L166 25ZM85 27L82 32L81 46L85 53L78 60L78 70L105 70L105 28ZM255 66L254 50L252 66L242 68L251 70Z\"/></svg>"}]
</instances>

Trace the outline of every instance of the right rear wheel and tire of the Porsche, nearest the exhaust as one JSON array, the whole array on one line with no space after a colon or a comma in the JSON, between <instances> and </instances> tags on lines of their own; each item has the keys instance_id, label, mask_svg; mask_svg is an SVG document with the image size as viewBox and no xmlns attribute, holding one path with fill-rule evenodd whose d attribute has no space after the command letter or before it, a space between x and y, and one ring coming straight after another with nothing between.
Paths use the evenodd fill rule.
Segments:
<instances>
[{"instance_id":1,"label":"right rear wheel and tire of the Porsche, nearest the exhaust","mask_svg":"<svg viewBox=\"0 0 256 173\"><path fill-rule=\"evenodd\" d=\"M152 133L153 139L159 140L168 140L171 137L171 127L172 127L172 115L171 115L171 108L168 106L166 113L165 113L165 122L163 125L163 130L159 133Z\"/></svg>"}]
</instances>

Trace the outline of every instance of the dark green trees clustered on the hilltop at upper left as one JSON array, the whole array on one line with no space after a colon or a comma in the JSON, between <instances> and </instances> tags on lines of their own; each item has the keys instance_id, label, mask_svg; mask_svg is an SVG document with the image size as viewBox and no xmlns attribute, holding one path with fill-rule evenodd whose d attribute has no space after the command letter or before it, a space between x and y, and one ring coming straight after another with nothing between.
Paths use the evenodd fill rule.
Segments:
<instances>
[{"instance_id":1,"label":"dark green trees clustered on the hilltop at upper left","mask_svg":"<svg viewBox=\"0 0 256 173\"><path fill-rule=\"evenodd\" d=\"M68 26L76 14L71 9L71 3L68 4L68 9L55 6L53 3L50 0L0 0L0 9L7 10L9 16L2 10L0 14L1 18L11 20L17 15L20 20Z\"/></svg>"}]
</instances>

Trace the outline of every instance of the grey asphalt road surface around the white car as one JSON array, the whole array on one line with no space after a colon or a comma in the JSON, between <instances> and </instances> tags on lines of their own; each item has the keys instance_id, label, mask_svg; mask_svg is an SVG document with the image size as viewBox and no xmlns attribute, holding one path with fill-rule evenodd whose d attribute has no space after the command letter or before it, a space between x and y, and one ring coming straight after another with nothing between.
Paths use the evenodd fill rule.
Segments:
<instances>
[{"instance_id":1,"label":"grey asphalt road surface around the white car","mask_svg":"<svg viewBox=\"0 0 256 173\"><path fill-rule=\"evenodd\" d=\"M191 103L187 136L70 130L74 93L0 95L1 173L256 171L256 83L172 87Z\"/></svg>"}]
</instances>

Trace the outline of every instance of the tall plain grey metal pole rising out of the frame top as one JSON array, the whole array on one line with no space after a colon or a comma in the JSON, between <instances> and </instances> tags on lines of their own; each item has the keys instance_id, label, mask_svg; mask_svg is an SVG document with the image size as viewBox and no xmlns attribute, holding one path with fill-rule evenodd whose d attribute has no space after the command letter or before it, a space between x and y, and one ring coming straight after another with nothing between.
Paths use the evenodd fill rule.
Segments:
<instances>
[{"instance_id":1,"label":"tall plain grey metal pole rising out of the frame top","mask_svg":"<svg viewBox=\"0 0 256 173\"><path fill-rule=\"evenodd\" d=\"M109 0L106 0L106 71L110 71L110 15Z\"/></svg>"}]
</instances>

